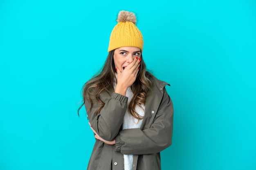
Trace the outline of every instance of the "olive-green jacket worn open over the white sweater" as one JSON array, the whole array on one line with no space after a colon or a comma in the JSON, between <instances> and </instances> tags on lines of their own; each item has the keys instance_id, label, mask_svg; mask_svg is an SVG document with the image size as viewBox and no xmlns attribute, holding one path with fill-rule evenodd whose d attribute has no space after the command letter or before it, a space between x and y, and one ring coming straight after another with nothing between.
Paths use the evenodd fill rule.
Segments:
<instances>
[{"instance_id":1,"label":"olive-green jacket worn open over the white sweater","mask_svg":"<svg viewBox=\"0 0 256 170\"><path fill-rule=\"evenodd\" d=\"M161 170L160 151L171 145L173 133L173 103L165 86L156 78L152 91L148 92L145 115L141 128L122 130L128 98L115 92L103 92L100 96L105 105L94 102L88 118L92 128L105 140L115 139L115 145L108 145L96 139L88 170L124 170L124 156L133 156L132 170ZM85 101L85 108L90 102Z\"/></svg>"}]
</instances>

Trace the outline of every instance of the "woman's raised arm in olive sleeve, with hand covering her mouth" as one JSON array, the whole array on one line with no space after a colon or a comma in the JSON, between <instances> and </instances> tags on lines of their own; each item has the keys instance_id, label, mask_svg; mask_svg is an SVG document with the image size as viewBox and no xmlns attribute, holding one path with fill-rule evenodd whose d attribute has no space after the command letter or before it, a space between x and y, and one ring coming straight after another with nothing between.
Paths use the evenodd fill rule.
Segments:
<instances>
[{"instance_id":1,"label":"woman's raised arm in olive sleeve, with hand covering her mouth","mask_svg":"<svg viewBox=\"0 0 256 170\"><path fill-rule=\"evenodd\" d=\"M139 71L139 62L140 59L136 57L123 72L116 69L117 85L115 92L110 94L104 91L100 94L100 98L105 105L98 115L96 115L96 113L101 105L95 98L92 98L93 106L91 112L87 114L92 128L102 139L112 141L119 133L127 108L128 97L125 96L126 90L136 80ZM90 107L90 101L85 99L85 108L87 112Z\"/></svg>"}]
</instances>

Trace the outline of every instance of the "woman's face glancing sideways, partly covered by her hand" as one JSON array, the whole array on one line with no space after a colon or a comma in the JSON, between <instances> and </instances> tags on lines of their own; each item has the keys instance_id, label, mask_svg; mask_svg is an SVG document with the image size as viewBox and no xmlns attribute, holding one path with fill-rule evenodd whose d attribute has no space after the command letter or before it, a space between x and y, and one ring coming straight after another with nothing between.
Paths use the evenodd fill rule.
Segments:
<instances>
[{"instance_id":1,"label":"woman's face glancing sideways, partly covered by her hand","mask_svg":"<svg viewBox=\"0 0 256 170\"><path fill-rule=\"evenodd\" d=\"M120 47L114 52L115 68L121 72L135 59L141 58L141 51L137 47Z\"/></svg>"}]
</instances>

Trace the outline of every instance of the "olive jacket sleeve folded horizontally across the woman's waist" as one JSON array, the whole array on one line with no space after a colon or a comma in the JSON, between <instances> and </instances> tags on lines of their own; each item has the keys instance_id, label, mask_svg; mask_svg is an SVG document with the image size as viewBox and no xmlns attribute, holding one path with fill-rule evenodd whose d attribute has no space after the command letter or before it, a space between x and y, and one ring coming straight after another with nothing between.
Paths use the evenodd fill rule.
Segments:
<instances>
[{"instance_id":1,"label":"olive jacket sleeve folded horizontally across the woman's waist","mask_svg":"<svg viewBox=\"0 0 256 170\"><path fill-rule=\"evenodd\" d=\"M173 103L164 88L162 101L150 128L120 131L115 138L115 151L126 155L158 153L171 145L172 134Z\"/></svg>"}]
</instances>

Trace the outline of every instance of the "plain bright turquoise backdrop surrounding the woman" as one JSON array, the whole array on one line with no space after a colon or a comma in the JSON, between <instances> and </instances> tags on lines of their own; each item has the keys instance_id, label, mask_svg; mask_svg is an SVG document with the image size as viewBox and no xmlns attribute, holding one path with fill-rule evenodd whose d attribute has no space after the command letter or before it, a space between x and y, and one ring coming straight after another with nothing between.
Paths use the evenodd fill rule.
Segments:
<instances>
[{"instance_id":1,"label":"plain bright turquoise backdrop surrounding the woman","mask_svg":"<svg viewBox=\"0 0 256 170\"><path fill-rule=\"evenodd\" d=\"M1 0L0 170L84 170L94 137L81 88L103 65L119 10L171 84L163 170L256 169L256 1Z\"/></svg>"}]
</instances>

